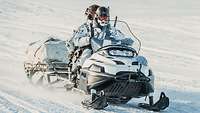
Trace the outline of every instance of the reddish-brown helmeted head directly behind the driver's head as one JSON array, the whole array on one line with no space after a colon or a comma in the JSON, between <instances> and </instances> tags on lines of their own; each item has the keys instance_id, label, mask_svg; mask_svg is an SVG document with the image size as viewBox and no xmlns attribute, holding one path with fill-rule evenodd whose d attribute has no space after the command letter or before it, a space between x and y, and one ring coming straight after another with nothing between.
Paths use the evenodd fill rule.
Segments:
<instances>
[{"instance_id":1,"label":"reddish-brown helmeted head directly behind the driver's head","mask_svg":"<svg viewBox=\"0 0 200 113\"><path fill-rule=\"evenodd\" d=\"M99 8L99 5L93 4L85 10L85 15L87 15L89 20L94 19L97 8Z\"/></svg>"}]
</instances>

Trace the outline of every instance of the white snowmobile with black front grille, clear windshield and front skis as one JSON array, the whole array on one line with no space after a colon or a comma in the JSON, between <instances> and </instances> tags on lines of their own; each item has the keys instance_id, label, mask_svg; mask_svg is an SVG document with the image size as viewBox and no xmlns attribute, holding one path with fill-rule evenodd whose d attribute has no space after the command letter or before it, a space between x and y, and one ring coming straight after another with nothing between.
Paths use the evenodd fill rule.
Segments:
<instances>
[{"instance_id":1,"label":"white snowmobile with black front grille, clear windshield and front skis","mask_svg":"<svg viewBox=\"0 0 200 113\"><path fill-rule=\"evenodd\" d=\"M167 108L169 98L163 92L153 102L154 74L146 58L139 55L141 43L128 24L116 19L107 29L91 38L92 56L71 74L75 87L91 95L82 105L103 109L108 103L125 104L131 98L149 97L149 104L139 106L153 111Z\"/></svg>"}]
</instances>

